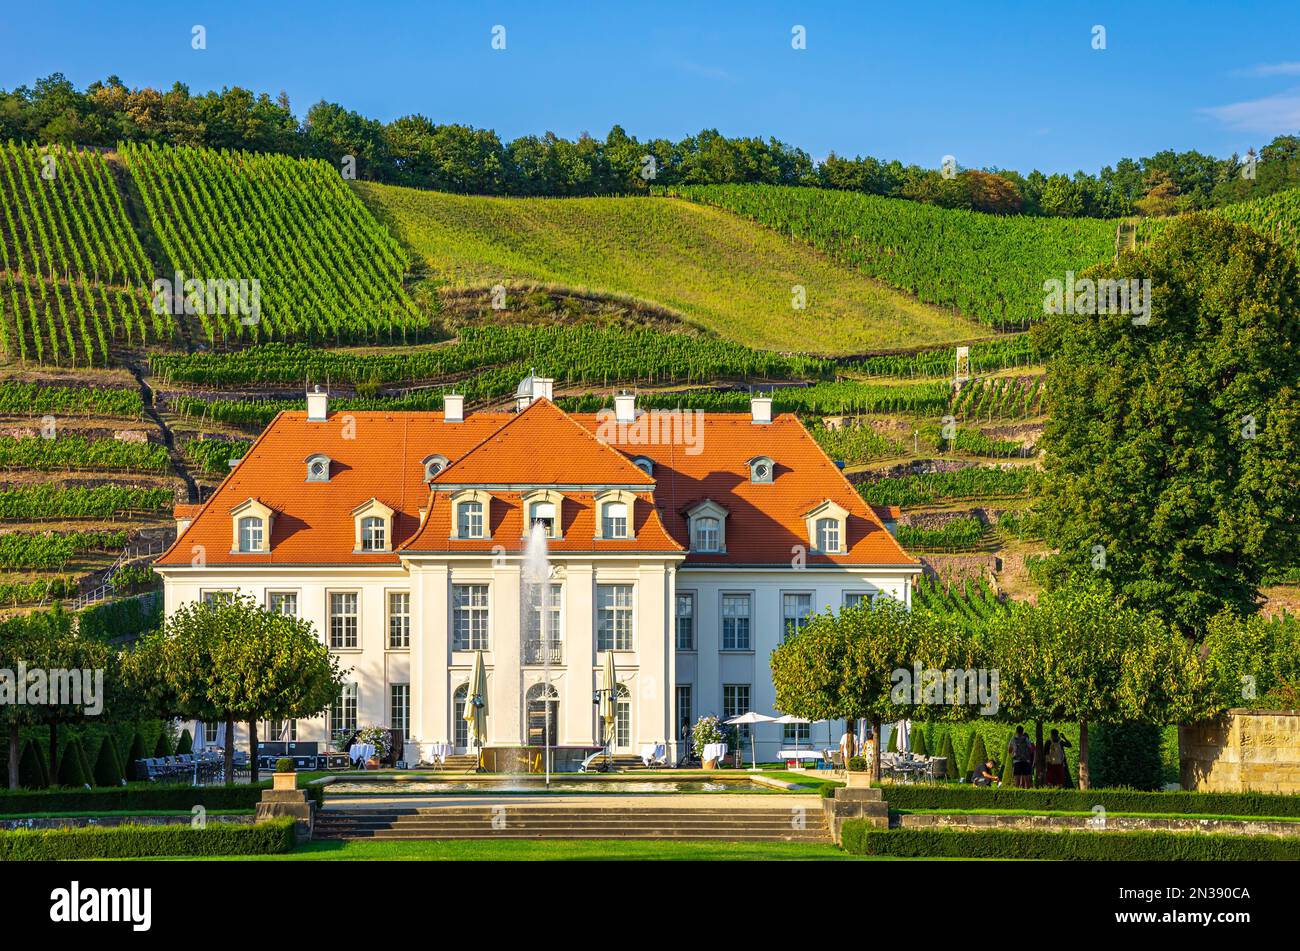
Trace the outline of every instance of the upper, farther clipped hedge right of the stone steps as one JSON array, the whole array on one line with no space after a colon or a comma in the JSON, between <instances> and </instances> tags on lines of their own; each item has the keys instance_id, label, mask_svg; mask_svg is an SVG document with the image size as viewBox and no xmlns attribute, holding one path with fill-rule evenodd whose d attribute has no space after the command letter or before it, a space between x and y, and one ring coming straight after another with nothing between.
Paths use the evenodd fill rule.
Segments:
<instances>
[{"instance_id":1,"label":"upper, farther clipped hedge right of the stone steps","mask_svg":"<svg viewBox=\"0 0 1300 951\"><path fill-rule=\"evenodd\" d=\"M1180 813L1193 816L1300 816L1300 795L1286 792L1147 792L1134 789L988 789L956 786L889 786L892 809L1043 809L1088 812Z\"/></svg>"}]
</instances>

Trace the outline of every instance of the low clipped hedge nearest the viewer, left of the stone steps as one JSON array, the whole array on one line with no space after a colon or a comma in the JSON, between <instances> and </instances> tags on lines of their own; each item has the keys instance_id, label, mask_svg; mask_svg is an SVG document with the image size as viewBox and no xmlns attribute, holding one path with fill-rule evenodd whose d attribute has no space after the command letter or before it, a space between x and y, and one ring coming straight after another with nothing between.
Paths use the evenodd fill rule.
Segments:
<instances>
[{"instance_id":1,"label":"low clipped hedge nearest the viewer, left of the stone steps","mask_svg":"<svg viewBox=\"0 0 1300 951\"><path fill-rule=\"evenodd\" d=\"M0 831L0 861L134 859L152 855L276 855L294 848L294 820L257 825L118 825Z\"/></svg>"}]
</instances>

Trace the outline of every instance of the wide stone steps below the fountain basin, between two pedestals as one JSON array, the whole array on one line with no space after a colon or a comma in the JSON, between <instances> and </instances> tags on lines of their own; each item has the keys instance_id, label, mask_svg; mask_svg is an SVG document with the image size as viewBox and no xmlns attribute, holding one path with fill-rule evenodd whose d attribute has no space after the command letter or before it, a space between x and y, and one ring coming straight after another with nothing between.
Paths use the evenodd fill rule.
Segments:
<instances>
[{"instance_id":1,"label":"wide stone steps below the fountain basin, between two pedestals","mask_svg":"<svg viewBox=\"0 0 1300 951\"><path fill-rule=\"evenodd\" d=\"M614 804L326 808L317 839L714 839L831 842L818 799L807 807L629 807Z\"/></svg>"}]
</instances>

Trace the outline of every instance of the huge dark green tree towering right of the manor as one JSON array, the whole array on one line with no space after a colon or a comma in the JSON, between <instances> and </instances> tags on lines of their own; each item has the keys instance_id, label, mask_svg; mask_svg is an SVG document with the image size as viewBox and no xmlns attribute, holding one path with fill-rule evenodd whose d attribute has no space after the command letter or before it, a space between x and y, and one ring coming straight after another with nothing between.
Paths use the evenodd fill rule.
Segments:
<instances>
[{"instance_id":1,"label":"huge dark green tree towering right of the manor","mask_svg":"<svg viewBox=\"0 0 1300 951\"><path fill-rule=\"evenodd\" d=\"M1089 277L1149 279L1152 307L1049 320L1046 538L1184 631L1248 612L1300 550L1297 262L1191 216Z\"/></svg>"}]
</instances>

